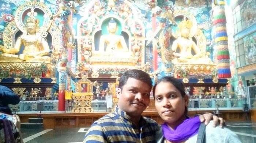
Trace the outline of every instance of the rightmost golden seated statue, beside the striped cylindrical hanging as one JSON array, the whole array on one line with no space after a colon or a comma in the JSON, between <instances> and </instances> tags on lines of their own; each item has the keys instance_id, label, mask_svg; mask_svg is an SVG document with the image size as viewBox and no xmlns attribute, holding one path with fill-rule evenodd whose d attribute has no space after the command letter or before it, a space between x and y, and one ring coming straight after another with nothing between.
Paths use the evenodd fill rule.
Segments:
<instances>
[{"instance_id":1,"label":"rightmost golden seated statue, beside the striped cylindrical hanging","mask_svg":"<svg viewBox=\"0 0 256 143\"><path fill-rule=\"evenodd\" d=\"M176 51L178 48L180 52L175 52L174 55L178 57L178 63L195 63L197 61L201 61L207 59L206 52L200 51L199 47L197 47L196 43L190 37L190 30L192 27L192 22L190 20L186 20L185 18L178 24L178 28L180 30L180 36L176 40L173 41L172 50ZM195 52L195 55L192 54L192 49ZM208 60L210 60L208 58Z\"/></svg>"}]
</instances>

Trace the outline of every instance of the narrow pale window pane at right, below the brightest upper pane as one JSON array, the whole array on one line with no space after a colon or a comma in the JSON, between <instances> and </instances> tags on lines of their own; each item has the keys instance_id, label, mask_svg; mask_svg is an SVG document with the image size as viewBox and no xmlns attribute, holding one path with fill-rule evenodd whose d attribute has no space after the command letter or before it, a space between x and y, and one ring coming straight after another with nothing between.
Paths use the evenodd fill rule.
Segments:
<instances>
[{"instance_id":1,"label":"narrow pale window pane at right, below the brightest upper pane","mask_svg":"<svg viewBox=\"0 0 256 143\"><path fill-rule=\"evenodd\" d=\"M237 67L245 66L244 41L240 39L235 42Z\"/></svg>"}]
</instances>

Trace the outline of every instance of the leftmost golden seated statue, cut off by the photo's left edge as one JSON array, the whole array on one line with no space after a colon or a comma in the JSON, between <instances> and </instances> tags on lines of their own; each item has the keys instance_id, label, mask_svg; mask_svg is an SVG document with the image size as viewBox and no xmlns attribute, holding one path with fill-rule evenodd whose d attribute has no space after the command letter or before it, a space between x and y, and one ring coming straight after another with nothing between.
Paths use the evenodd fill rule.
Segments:
<instances>
[{"instance_id":1,"label":"leftmost golden seated statue, cut off by the photo's left edge","mask_svg":"<svg viewBox=\"0 0 256 143\"><path fill-rule=\"evenodd\" d=\"M42 61L50 62L49 45L45 38L41 37L37 30L39 28L39 21L34 16L29 16L26 20L27 33L23 33L15 42L14 48L3 48L0 50L3 52L0 54L0 60L8 61ZM20 51L21 46L24 46L23 52L19 55L15 55Z\"/></svg>"}]
</instances>

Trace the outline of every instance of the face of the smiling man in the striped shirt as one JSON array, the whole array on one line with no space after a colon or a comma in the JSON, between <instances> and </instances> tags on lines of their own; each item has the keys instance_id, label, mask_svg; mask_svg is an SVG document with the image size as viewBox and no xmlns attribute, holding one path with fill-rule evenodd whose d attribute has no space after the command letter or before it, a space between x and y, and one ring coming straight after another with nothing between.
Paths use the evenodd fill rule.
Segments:
<instances>
[{"instance_id":1,"label":"face of the smiling man in the striped shirt","mask_svg":"<svg viewBox=\"0 0 256 143\"><path fill-rule=\"evenodd\" d=\"M121 90L118 107L129 116L140 116L150 102L150 91L146 83L129 78Z\"/></svg>"}]
</instances>

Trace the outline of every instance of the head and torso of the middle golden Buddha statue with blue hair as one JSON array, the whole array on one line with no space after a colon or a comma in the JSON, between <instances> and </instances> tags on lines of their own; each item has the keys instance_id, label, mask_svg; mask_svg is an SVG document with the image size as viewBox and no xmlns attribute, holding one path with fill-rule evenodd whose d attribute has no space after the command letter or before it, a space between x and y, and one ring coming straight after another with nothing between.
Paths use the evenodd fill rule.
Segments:
<instances>
[{"instance_id":1,"label":"head and torso of the middle golden Buddha statue with blue hair","mask_svg":"<svg viewBox=\"0 0 256 143\"><path fill-rule=\"evenodd\" d=\"M108 23L108 35L102 35L99 40L99 51L101 52L128 52L124 37L116 35L117 22L112 18ZM106 45L106 46L105 46Z\"/></svg>"}]
</instances>

